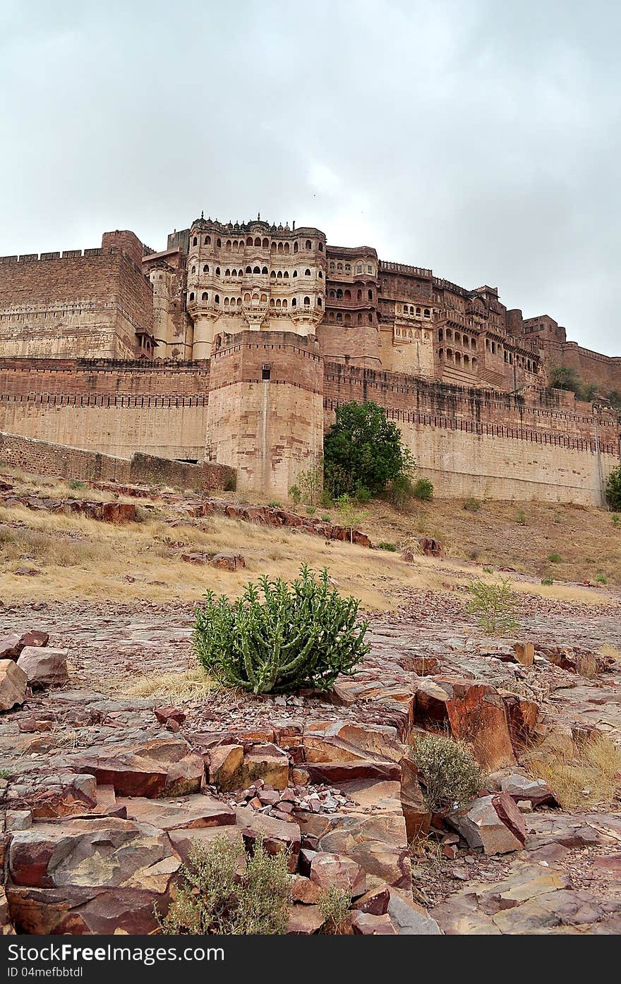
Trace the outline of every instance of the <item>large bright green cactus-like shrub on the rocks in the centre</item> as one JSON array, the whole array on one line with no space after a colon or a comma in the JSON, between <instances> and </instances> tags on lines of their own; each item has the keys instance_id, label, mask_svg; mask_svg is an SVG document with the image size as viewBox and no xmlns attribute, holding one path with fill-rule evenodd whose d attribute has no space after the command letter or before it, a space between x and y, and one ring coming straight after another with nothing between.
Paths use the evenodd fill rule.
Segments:
<instances>
[{"instance_id":1,"label":"large bright green cactus-like shrub on the rocks in the centre","mask_svg":"<svg viewBox=\"0 0 621 984\"><path fill-rule=\"evenodd\" d=\"M280 578L246 584L236 601L208 591L196 608L194 645L205 669L222 683L255 694L300 687L330 690L340 673L352 676L369 651L368 622L358 601L319 580L304 564L291 584Z\"/></svg>"}]
</instances>

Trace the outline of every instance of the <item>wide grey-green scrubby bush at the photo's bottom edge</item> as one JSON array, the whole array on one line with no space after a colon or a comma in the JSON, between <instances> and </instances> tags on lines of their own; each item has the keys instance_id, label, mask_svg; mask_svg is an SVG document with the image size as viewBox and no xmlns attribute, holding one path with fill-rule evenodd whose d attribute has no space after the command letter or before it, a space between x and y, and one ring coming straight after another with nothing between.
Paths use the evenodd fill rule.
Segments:
<instances>
[{"instance_id":1,"label":"wide grey-green scrubby bush at the photo's bottom edge","mask_svg":"<svg viewBox=\"0 0 621 984\"><path fill-rule=\"evenodd\" d=\"M158 917L165 936L269 936L286 932L290 881L284 851L268 854L255 842L245 871L237 874L244 850L224 834L197 841L180 869L167 915Z\"/></svg>"}]
</instances>

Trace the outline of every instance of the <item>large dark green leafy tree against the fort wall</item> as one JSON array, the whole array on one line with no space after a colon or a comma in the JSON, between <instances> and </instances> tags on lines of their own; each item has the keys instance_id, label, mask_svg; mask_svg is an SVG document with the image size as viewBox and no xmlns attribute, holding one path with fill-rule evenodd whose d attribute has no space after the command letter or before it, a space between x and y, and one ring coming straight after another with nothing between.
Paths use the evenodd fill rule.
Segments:
<instances>
[{"instance_id":1,"label":"large dark green leafy tree against the fort wall","mask_svg":"<svg viewBox=\"0 0 621 984\"><path fill-rule=\"evenodd\" d=\"M379 495L414 465L399 427L371 400L338 407L336 423L324 440L324 461L335 498L355 495L360 488Z\"/></svg>"}]
</instances>

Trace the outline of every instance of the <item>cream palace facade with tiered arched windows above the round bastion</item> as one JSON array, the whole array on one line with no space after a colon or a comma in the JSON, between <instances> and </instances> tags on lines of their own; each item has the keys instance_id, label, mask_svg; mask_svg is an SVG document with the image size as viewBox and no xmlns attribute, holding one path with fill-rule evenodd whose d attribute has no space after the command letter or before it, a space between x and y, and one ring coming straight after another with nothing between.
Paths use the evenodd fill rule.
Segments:
<instances>
[{"instance_id":1,"label":"cream palace facade with tiered arched windows above the round bastion","mask_svg":"<svg viewBox=\"0 0 621 984\"><path fill-rule=\"evenodd\" d=\"M319 229L197 218L190 229L187 311L193 359L240 332L316 334L326 304Z\"/></svg>"}]
</instances>

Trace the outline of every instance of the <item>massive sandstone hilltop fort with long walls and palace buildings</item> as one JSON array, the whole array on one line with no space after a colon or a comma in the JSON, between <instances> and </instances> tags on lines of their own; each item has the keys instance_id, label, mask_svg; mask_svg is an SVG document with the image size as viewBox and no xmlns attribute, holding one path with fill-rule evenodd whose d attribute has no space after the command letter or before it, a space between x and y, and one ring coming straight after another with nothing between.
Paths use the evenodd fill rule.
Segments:
<instances>
[{"instance_id":1,"label":"massive sandstone hilltop fort with long walls and palace buildings","mask_svg":"<svg viewBox=\"0 0 621 984\"><path fill-rule=\"evenodd\" d=\"M561 365L601 396L552 389ZM0 258L0 448L25 464L42 442L51 469L73 450L127 479L143 456L285 496L339 403L375 400L436 495L601 505L619 392L621 358L549 315L295 223L201 215L161 252L115 230Z\"/></svg>"}]
</instances>

